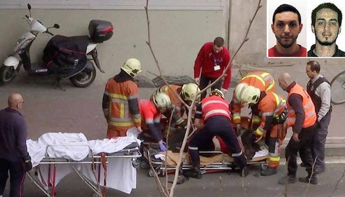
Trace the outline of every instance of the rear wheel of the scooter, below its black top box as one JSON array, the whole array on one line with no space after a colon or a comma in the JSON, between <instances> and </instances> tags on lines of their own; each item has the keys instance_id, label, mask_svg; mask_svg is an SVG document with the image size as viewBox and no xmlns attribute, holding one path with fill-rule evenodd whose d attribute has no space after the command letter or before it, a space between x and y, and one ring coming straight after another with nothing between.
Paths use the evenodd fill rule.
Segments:
<instances>
[{"instance_id":1,"label":"rear wheel of the scooter, below its black top box","mask_svg":"<svg viewBox=\"0 0 345 197\"><path fill-rule=\"evenodd\" d=\"M88 87L96 78L96 68L94 66L92 66L92 68L92 70L84 69L83 71L69 78L69 81L72 82L74 86L79 88Z\"/></svg>"}]
</instances>

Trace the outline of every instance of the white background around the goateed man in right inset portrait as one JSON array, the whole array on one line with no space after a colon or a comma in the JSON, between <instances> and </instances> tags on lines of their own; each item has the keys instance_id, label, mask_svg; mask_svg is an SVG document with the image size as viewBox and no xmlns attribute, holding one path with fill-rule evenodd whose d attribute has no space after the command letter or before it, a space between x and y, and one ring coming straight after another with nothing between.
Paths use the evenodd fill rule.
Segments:
<instances>
[{"instance_id":1,"label":"white background around the goateed man in right inset portrait","mask_svg":"<svg viewBox=\"0 0 345 197\"><path fill-rule=\"evenodd\" d=\"M315 44L315 34L311 31L311 12L317 5L325 2L331 2L335 4L343 14L342 26L344 26L344 14L345 14L345 0L313 0L308 1L307 4L307 51L311 49L311 45ZM342 28L336 41L340 50L345 51L345 29Z\"/></svg>"}]
</instances>

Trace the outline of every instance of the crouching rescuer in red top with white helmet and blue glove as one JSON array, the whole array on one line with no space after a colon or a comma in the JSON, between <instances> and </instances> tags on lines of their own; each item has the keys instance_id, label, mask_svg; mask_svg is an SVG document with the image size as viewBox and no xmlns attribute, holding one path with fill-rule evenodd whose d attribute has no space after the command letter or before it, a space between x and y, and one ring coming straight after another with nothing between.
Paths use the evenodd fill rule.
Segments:
<instances>
[{"instance_id":1,"label":"crouching rescuer in red top with white helmet and blue glove","mask_svg":"<svg viewBox=\"0 0 345 197\"><path fill-rule=\"evenodd\" d=\"M162 113L171 107L171 100L165 93L156 93L150 100L140 100L140 114L142 130L139 139L157 141L162 152L166 151L166 143L163 141L160 120Z\"/></svg>"}]
</instances>

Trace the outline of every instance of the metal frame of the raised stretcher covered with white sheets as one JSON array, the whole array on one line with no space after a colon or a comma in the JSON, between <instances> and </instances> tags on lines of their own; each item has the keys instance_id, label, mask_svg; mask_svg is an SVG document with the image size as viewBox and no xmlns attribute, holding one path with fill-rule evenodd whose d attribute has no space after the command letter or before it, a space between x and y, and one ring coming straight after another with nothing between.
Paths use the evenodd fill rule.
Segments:
<instances>
[{"instance_id":1,"label":"metal frame of the raised stretcher covered with white sheets","mask_svg":"<svg viewBox=\"0 0 345 197\"><path fill-rule=\"evenodd\" d=\"M49 158L47 154L47 149L50 146L86 146L89 148L89 154L88 157L86 157L82 161L73 161L66 158ZM28 175L29 179L35 184L35 186L41 190L47 197L55 197L55 181L56 181L56 173L57 168L56 164L68 164L71 165L73 171L79 176L79 178L94 192L93 197L106 197L106 165L109 163L107 161L107 158L131 158L132 159L132 165L135 168L138 168L140 165L137 161L138 158L140 158L142 155L139 151L139 148L131 148L131 149L123 149L121 151L111 153L111 154L105 154L100 153L97 155L93 155L92 149L89 145L75 145L75 144L63 144L63 145L48 145L45 150L45 157L42 159L41 162L37 166L34 167L35 173L32 174L30 171L26 174ZM86 178L85 175L83 175L75 166L74 164L91 164L92 173L95 176L95 180L97 181L97 184L95 186L92 181ZM98 164L98 165L97 165ZM40 165L48 165L48 177L47 177L47 183L43 185L41 181L38 179L38 171ZM100 183L101 183L101 165L104 168L104 187L103 190L101 189ZM96 173L97 170L97 173ZM52 183L50 182L51 176L53 177ZM41 178L43 179L42 175ZM44 180L43 180L44 181ZM45 181L44 181L45 182Z\"/></svg>"}]
</instances>

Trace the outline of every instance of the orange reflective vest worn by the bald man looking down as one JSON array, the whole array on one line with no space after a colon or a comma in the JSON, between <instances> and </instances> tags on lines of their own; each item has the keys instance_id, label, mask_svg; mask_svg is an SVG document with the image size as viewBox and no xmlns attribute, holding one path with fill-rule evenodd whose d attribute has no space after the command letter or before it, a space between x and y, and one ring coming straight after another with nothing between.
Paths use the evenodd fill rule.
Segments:
<instances>
[{"instance_id":1,"label":"orange reflective vest worn by the bald man looking down","mask_svg":"<svg viewBox=\"0 0 345 197\"><path fill-rule=\"evenodd\" d=\"M303 110L305 113L305 119L304 119L302 128L308 128L308 127L313 126L316 121L316 113L315 113L315 107L314 107L314 104L312 103L311 97L297 83L290 89L289 96L287 97L288 100L289 100L290 95L292 94L297 94L302 97L302 105L303 105ZM288 110L287 125L288 127L292 127L295 125L296 114L295 114L295 111L292 109L289 102L287 102L287 110Z\"/></svg>"}]
</instances>

